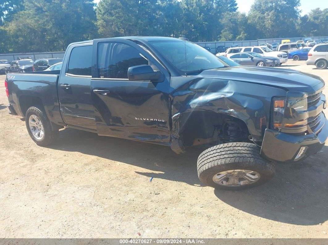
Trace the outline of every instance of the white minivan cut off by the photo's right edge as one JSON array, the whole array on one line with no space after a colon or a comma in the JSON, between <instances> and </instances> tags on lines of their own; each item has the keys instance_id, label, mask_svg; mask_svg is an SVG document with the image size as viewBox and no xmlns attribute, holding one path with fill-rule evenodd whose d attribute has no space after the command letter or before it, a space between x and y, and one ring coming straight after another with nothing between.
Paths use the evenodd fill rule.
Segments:
<instances>
[{"instance_id":1,"label":"white minivan cut off by the photo's right edge","mask_svg":"<svg viewBox=\"0 0 328 245\"><path fill-rule=\"evenodd\" d=\"M317 44L308 53L307 65L315 65L318 69L326 69L328 66L328 44Z\"/></svg>"}]
</instances>

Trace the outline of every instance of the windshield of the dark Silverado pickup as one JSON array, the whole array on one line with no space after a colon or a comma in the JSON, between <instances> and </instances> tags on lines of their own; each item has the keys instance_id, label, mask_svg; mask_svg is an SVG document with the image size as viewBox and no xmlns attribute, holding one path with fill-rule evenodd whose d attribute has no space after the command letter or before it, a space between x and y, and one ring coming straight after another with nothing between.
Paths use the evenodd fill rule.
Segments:
<instances>
[{"instance_id":1,"label":"windshield of the dark Silverado pickup","mask_svg":"<svg viewBox=\"0 0 328 245\"><path fill-rule=\"evenodd\" d=\"M197 44L185 41L153 41L154 47L181 73L199 73L202 70L225 67L211 52Z\"/></svg>"}]
</instances>

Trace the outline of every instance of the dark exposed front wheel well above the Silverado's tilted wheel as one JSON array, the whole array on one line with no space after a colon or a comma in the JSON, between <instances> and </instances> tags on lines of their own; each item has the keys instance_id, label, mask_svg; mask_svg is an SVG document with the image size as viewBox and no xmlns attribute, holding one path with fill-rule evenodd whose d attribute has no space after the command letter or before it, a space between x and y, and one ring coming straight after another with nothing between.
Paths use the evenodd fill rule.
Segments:
<instances>
[{"instance_id":1,"label":"dark exposed front wheel well above the Silverado's tilted wheel","mask_svg":"<svg viewBox=\"0 0 328 245\"><path fill-rule=\"evenodd\" d=\"M181 115L183 145L217 145L227 142L249 142L248 128L244 121L215 112L199 111Z\"/></svg>"}]
</instances>

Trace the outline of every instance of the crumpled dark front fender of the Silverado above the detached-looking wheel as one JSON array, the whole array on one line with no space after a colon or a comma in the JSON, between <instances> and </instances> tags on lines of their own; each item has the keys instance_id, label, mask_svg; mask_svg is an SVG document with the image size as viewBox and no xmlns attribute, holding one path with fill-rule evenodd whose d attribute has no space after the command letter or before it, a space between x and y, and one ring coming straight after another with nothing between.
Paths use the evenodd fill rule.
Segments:
<instances>
[{"instance_id":1,"label":"crumpled dark front fender of the Silverado above the detached-looking wheel","mask_svg":"<svg viewBox=\"0 0 328 245\"><path fill-rule=\"evenodd\" d=\"M186 81L188 80L188 81ZM172 133L171 148L182 153L190 145L182 137L186 125L197 121L195 130L188 131L188 138L197 138L199 129L206 127L208 113L215 113L217 118L222 115L238 118L247 126L254 141L261 143L264 130L269 126L272 90L255 83L228 79L195 77L172 77ZM283 92L277 92L281 94ZM199 118L203 117L203 118ZM196 119L197 118L197 119ZM196 119L196 120L195 120ZM199 122L198 122L198 119ZM219 124L219 122L213 122ZM215 126L215 125L213 125ZM188 126L189 127L189 126ZM206 130L205 130L206 131ZM213 130L205 134L215 133ZM211 137L205 135L203 137ZM215 138L214 138L215 139Z\"/></svg>"}]
</instances>

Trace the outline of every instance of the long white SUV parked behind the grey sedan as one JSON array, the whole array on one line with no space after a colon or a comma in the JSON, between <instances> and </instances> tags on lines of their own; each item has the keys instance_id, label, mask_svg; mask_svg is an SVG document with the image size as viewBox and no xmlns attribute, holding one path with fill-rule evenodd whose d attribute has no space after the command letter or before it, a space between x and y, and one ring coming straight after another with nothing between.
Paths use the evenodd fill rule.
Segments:
<instances>
[{"instance_id":1,"label":"long white SUV parked behind the grey sedan","mask_svg":"<svg viewBox=\"0 0 328 245\"><path fill-rule=\"evenodd\" d=\"M270 48L265 46L228 48L225 53L217 54L217 56L224 55L225 57L230 58L230 56L240 52L255 52L258 54L262 54L263 56L266 57L268 56L278 57L280 60L280 65L288 61L288 55L285 52L272 51Z\"/></svg>"}]
</instances>

